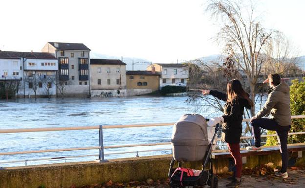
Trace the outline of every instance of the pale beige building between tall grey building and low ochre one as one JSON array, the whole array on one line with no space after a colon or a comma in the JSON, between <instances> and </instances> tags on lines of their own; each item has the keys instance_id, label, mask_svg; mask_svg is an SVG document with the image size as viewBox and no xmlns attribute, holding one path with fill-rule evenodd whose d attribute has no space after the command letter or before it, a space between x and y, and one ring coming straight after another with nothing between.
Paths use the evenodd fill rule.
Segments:
<instances>
[{"instance_id":1,"label":"pale beige building between tall grey building and low ochre one","mask_svg":"<svg viewBox=\"0 0 305 188\"><path fill-rule=\"evenodd\" d=\"M121 60L90 60L91 96L125 96L126 64Z\"/></svg>"}]
</instances>

